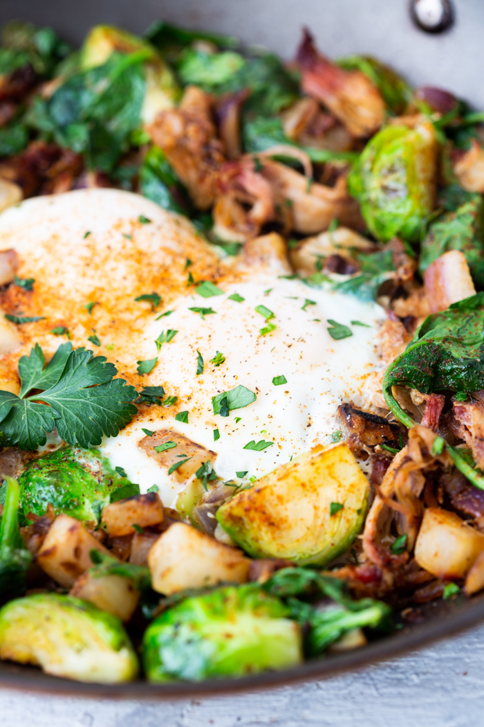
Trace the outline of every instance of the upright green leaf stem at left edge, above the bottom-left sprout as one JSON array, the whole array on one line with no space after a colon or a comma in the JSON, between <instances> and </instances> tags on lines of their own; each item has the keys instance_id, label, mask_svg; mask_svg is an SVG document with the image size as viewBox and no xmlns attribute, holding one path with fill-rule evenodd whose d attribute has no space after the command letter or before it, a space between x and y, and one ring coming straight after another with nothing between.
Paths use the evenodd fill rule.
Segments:
<instances>
[{"instance_id":1,"label":"upright green leaf stem at left edge, above the bottom-left sprout","mask_svg":"<svg viewBox=\"0 0 484 727\"><path fill-rule=\"evenodd\" d=\"M20 486L7 477L4 512L0 523L0 605L24 593L32 555L25 547L18 525Z\"/></svg>"}]
</instances>

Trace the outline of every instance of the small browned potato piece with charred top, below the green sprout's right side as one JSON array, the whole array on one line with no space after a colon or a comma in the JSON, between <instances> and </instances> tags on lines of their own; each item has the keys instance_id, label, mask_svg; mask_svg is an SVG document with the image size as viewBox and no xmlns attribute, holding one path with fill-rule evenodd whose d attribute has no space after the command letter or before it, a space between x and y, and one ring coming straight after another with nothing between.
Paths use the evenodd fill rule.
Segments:
<instances>
[{"instance_id":1,"label":"small browned potato piece with charred top, below the green sprout's right side","mask_svg":"<svg viewBox=\"0 0 484 727\"><path fill-rule=\"evenodd\" d=\"M163 517L163 502L157 492L112 502L102 511L102 522L111 537L131 535L136 532L134 525L149 528L161 523Z\"/></svg>"}]
</instances>

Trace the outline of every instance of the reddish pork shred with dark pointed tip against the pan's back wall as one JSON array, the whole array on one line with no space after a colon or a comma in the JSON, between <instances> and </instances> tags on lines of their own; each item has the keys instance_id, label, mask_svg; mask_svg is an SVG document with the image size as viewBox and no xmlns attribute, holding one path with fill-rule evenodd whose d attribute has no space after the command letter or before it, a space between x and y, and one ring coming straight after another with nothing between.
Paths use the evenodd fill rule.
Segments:
<instances>
[{"instance_id":1,"label":"reddish pork shred with dark pointed tip against the pan's back wall","mask_svg":"<svg viewBox=\"0 0 484 727\"><path fill-rule=\"evenodd\" d=\"M343 71L321 55L307 29L297 55L303 91L324 103L354 137L380 129L385 104L380 92L361 71Z\"/></svg>"}]
</instances>

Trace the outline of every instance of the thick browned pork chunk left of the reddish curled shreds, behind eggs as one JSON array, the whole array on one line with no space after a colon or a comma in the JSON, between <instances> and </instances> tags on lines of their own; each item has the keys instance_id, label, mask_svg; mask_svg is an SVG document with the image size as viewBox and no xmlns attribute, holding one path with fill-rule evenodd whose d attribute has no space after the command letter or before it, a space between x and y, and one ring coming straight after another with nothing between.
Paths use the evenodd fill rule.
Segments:
<instances>
[{"instance_id":1,"label":"thick browned pork chunk left of the reddish curled shreds, behind eggs","mask_svg":"<svg viewBox=\"0 0 484 727\"><path fill-rule=\"evenodd\" d=\"M218 171L225 161L213 121L213 99L196 86L186 88L179 108L162 111L149 127L186 185L194 204L208 209L216 196Z\"/></svg>"}]
</instances>

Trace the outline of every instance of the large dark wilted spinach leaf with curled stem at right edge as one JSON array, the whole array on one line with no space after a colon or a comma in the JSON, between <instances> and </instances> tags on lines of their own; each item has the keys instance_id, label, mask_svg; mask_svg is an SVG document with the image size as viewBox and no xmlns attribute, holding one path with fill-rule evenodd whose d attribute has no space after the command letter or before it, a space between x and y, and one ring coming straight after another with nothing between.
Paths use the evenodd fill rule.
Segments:
<instances>
[{"instance_id":1,"label":"large dark wilted spinach leaf with curled stem at right edge","mask_svg":"<svg viewBox=\"0 0 484 727\"><path fill-rule=\"evenodd\" d=\"M456 393L484 387L484 293L428 316L383 379L390 411L406 427L415 424L395 400L392 387L411 386L424 394Z\"/></svg>"}]
</instances>

